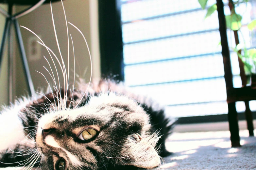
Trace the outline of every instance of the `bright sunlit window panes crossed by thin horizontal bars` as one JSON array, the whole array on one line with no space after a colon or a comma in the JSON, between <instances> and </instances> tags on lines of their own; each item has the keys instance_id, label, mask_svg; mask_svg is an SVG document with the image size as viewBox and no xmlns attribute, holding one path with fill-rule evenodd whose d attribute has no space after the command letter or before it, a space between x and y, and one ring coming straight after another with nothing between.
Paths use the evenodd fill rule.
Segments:
<instances>
[{"instance_id":1,"label":"bright sunlit window panes crossed by thin horizontal bars","mask_svg":"<svg viewBox=\"0 0 256 170\"><path fill-rule=\"evenodd\" d=\"M227 0L223 1L227 4ZM124 80L133 91L167 106L174 117L227 114L226 85L218 16L204 19L197 0L117 0L123 42ZM208 0L208 7L216 3ZM246 24L255 19L256 1L242 3L240 42L255 48L255 35ZM229 14L225 7L225 14ZM235 47L228 30L230 51ZM243 40L244 39L244 40ZM237 54L230 52L234 87L241 87ZM243 102L237 102L244 112ZM250 101L252 111L256 102Z\"/></svg>"}]
</instances>

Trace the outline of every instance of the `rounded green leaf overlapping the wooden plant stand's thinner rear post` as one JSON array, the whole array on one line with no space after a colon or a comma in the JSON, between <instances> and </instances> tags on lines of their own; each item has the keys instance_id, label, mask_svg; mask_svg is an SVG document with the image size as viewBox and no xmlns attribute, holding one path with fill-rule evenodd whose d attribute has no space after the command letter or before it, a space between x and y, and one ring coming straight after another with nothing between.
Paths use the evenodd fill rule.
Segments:
<instances>
[{"instance_id":1,"label":"rounded green leaf overlapping the wooden plant stand's thinner rear post","mask_svg":"<svg viewBox=\"0 0 256 170\"><path fill-rule=\"evenodd\" d=\"M239 14L231 14L231 15L226 15L226 23L227 23L227 28L235 31L239 30L242 26L241 20L242 16Z\"/></svg>"}]
</instances>

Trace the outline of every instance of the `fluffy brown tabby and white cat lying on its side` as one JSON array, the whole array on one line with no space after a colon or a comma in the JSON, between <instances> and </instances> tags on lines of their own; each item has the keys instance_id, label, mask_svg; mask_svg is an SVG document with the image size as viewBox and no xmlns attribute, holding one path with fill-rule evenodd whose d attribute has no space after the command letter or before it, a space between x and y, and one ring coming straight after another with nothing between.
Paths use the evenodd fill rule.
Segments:
<instances>
[{"instance_id":1,"label":"fluffy brown tabby and white cat lying on its side","mask_svg":"<svg viewBox=\"0 0 256 170\"><path fill-rule=\"evenodd\" d=\"M174 121L164 108L108 78L80 79L69 88L64 64L62 73L64 87L54 79L54 90L18 99L0 112L0 167L151 169L170 154L164 143Z\"/></svg>"}]
</instances>

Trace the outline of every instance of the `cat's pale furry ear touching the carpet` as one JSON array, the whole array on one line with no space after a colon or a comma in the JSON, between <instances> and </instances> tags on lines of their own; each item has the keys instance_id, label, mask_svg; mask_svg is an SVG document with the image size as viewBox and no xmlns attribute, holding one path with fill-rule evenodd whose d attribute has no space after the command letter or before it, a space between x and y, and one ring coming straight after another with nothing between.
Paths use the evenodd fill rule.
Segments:
<instances>
[{"instance_id":1,"label":"cat's pale furry ear touching the carpet","mask_svg":"<svg viewBox=\"0 0 256 170\"><path fill-rule=\"evenodd\" d=\"M127 155L125 165L133 165L140 168L151 169L160 165L160 157L155 150L159 137L157 134L142 138L134 134L128 138L122 155Z\"/></svg>"}]
</instances>

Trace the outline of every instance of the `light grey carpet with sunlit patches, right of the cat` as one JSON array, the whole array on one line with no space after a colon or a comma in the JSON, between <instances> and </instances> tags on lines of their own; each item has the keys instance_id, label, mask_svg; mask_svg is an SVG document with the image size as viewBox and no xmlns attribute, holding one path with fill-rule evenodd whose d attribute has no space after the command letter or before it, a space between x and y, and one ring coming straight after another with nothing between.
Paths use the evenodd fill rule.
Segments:
<instances>
[{"instance_id":1,"label":"light grey carpet with sunlit patches, right of the cat","mask_svg":"<svg viewBox=\"0 0 256 170\"><path fill-rule=\"evenodd\" d=\"M164 158L161 169L256 169L256 137L247 137L247 130L239 134L242 147L231 148L229 131L174 133L166 143L174 153Z\"/></svg>"}]
</instances>

